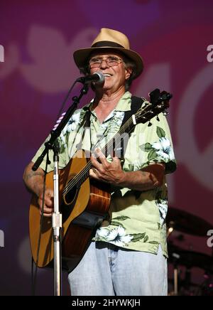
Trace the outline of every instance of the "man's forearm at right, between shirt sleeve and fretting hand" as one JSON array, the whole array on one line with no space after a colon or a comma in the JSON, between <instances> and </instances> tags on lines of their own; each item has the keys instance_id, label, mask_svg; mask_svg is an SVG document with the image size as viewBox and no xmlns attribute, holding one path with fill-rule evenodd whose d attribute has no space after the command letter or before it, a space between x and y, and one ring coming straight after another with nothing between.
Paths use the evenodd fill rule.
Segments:
<instances>
[{"instance_id":1,"label":"man's forearm at right, between shirt sleeve and fretting hand","mask_svg":"<svg viewBox=\"0 0 213 310\"><path fill-rule=\"evenodd\" d=\"M149 191L162 185L162 180L149 171L124 172L119 186L136 191Z\"/></svg>"}]
</instances>

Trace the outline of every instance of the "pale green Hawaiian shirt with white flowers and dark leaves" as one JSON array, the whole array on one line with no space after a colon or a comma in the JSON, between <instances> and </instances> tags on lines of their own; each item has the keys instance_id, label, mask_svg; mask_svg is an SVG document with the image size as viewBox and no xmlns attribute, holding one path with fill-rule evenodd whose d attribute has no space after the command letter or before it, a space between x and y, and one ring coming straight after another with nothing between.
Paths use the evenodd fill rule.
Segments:
<instances>
[{"instance_id":1,"label":"pale green Hawaiian shirt with white flowers and dark leaves","mask_svg":"<svg viewBox=\"0 0 213 310\"><path fill-rule=\"evenodd\" d=\"M143 102L143 105L146 102ZM90 113L90 129L84 129L84 115ZM60 169L64 168L77 149L102 149L119 132L124 113L131 109L131 93L125 92L116 108L107 119L99 123L92 111L92 102L77 109L58 138L60 144ZM165 174L176 169L173 143L165 116L151 120L152 126L137 124L126 146L124 171L138 171L154 163L165 164ZM83 139L82 139L83 137ZM33 162L43 151L43 145L33 157ZM107 157L111 161L111 156ZM45 169L45 161L41 164ZM53 164L48 166L48 172ZM110 242L129 250L157 254L161 245L163 254L168 257L165 218L168 211L168 191L166 178L163 186L150 191L133 191L129 188L113 187L109 221L104 221L97 229L94 240Z\"/></svg>"}]
</instances>

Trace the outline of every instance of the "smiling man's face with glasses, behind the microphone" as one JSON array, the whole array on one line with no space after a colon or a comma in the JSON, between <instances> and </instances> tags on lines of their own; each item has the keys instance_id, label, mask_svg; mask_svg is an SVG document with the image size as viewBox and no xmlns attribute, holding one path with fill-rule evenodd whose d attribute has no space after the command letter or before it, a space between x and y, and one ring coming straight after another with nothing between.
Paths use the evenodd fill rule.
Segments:
<instances>
[{"instance_id":1,"label":"smiling man's face with glasses, behind the microphone","mask_svg":"<svg viewBox=\"0 0 213 310\"><path fill-rule=\"evenodd\" d=\"M97 63L99 63L99 67ZM94 87L102 87L103 90L112 92L116 92L122 87L125 88L125 81L131 75L131 69L125 69L124 57L114 51L93 53L89 59L89 69L90 74L99 71L104 75L104 84L97 84Z\"/></svg>"}]
</instances>

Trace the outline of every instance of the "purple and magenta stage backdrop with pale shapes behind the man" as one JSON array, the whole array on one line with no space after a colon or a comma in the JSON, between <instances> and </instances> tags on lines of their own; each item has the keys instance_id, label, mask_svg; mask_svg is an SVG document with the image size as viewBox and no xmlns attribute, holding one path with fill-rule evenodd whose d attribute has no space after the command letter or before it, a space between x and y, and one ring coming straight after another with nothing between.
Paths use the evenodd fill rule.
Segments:
<instances>
[{"instance_id":1,"label":"purple and magenta stage backdrop with pale shapes behind the man","mask_svg":"<svg viewBox=\"0 0 213 310\"><path fill-rule=\"evenodd\" d=\"M31 294L31 196L23 186L23 169L80 75L73 51L90 46L102 27L126 33L131 48L143 57L145 70L132 92L148 97L158 87L173 93L168 121L178 171L168 178L170 207L213 224L212 0L1 0L0 295ZM91 97L89 92L81 104ZM207 233L180 233L170 240L211 255ZM193 281L202 282L204 270L192 269ZM38 270L37 294L52 292L52 272ZM63 294L68 294L66 274Z\"/></svg>"}]
</instances>

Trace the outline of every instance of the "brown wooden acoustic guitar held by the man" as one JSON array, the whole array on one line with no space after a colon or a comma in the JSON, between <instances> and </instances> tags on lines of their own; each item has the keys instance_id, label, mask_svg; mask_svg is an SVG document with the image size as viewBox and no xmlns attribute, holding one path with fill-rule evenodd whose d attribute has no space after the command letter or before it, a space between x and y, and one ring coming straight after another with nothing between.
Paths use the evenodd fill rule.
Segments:
<instances>
[{"instance_id":1,"label":"brown wooden acoustic guitar held by the man","mask_svg":"<svg viewBox=\"0 0 213 310\"><path fill-rule=\"evenodd\" d=\"M133 132L136 124L146 123L153 117L165 112L169 107L171 95L161 92L158 100L146 103L133 114L119 132L102 149L102 153L118 147L120 137ZM110 205L110 188L107 183L97 183L89 179L92 164L83 150L75 156L64 169L59 170L60 212L62 213L62 269L71 271L82 259L92 240L95 230L107 218ZM46 187L53 188L53 171L46 176ZM38 197L33 195L29 213L29 233L31 252L38 267L51 267L53 264L53 228L52 218L43 217L40 225ZM41 227L40 227L41 226ZM40 250L38 253L38 240Z\"/></svg>"}]
</instances>

